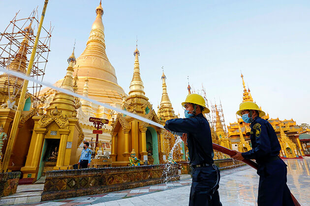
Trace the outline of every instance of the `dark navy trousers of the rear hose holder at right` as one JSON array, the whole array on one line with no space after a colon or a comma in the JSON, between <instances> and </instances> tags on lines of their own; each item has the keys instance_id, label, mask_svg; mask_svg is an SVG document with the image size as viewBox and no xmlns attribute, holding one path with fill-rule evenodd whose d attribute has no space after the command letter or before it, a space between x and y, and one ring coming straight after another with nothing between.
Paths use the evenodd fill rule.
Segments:
<instances>
[{"instance_id":1,"label":"dark navy trousers of the rear hose holder at right","mask_svg":"<svg viewBox=\"0 0 310 206\"><path fill-rule=\"evenodd\" d=\"M282 159L258 165L258 206L294 206L286 184L286 167Z\"/></svg>"}]
</instances>

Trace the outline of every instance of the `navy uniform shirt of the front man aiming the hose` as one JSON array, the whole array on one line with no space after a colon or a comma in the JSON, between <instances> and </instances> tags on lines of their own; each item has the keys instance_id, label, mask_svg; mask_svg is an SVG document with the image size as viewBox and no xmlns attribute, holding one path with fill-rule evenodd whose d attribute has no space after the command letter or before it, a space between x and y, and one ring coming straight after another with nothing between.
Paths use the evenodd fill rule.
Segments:
<instances>
[{"instance_id":1,"label":"navy uniform shirt of the front man aiming the hose","mask_svg":"<svg viewBox=\"0 0 310 206\"><path fill-rule=\"evenodd\" d=\"M168 120L164 128L187 133L188 154L191 164L214 163L211 129L203 114L191 118Z\"/></svg>"}]
</instances>

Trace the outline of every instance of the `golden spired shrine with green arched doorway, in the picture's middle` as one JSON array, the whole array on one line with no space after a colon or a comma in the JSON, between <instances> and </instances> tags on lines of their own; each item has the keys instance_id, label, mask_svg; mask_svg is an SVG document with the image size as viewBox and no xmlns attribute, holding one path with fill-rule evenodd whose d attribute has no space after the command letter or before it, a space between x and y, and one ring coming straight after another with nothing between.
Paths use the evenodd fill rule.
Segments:
<instances>
[{"instance_id":1,"label":"golden spired shrine with green arched doorway, in the picture's middle","mask_svg":"<svg viewBox=\"0 0 310 206\"><path fill-rule=\"evenodd\" d=\"M129 96L124 99L122 109L160 123L149 98L145 96L140 77L139 55L140 52L136 48ZM112 150L110 157L112 165L127 166L130 152L133 149L141 162L149 160L148 154L151 153L153 164L163 163L164 157L168 157L168 155L163 153L162 133L163 129L124 114L118 114L111 129Z\"/></svg>"}]
</instances>

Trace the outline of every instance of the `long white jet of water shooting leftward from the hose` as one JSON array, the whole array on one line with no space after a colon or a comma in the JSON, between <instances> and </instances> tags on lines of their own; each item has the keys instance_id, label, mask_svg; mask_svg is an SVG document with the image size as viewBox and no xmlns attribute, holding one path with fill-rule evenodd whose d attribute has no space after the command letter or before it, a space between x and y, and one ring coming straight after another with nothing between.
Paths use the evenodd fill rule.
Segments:
<instances>
[{"instance_id":1,"label":"long white jet of water shooting leftward from the hose","mask_svg":"<svg viewBox=\"0 0 310 206\"><path fill-rule=\"evenodd\" d=\"M0 67L0 72L5 72L5 73L8 73L8 74L10 74L10 75L14 75L14 76L16 76L16 77L20 77L20 78L26 79L26 80L28 80L28 81L33 81L33 82L38 83L38 84L40 84L40 85L50 87L50 88L55 89L55 90L58 90L58 91L60 91L60 92L62 92L62 93L65 93L65 94L68 94L68 95L72 95L72 96L77 97L77 98L80 98L80 99L87 100L87 101L89 101L89 102L91 102L91 103L95 103L95 104L98 104L98 105L100 105L100 106L104 106L104 107L109 108L109 109L113 109L113 110L115 110L115 111L117 111L117 112L123 113L123 114L128 115L128 116L130 116L130 117L133 117L133 118L135 118L135 119L141 120L141 121L143 121L143 122L147 122L147 123L149 123L149 124L151 124L151 125L154 125L154 126L156 126L156 127L159 127L159 128L164 129L162 125L160 125L160 124L158 124L158 123L156 123L156 122L153 122L152 120L149 120L149 119L147 119L147 118L141 117L141 116L139 116L139 115L137 115L137 114L130 113L130 112L125 111L125 110L123 110L123 109L120 109L120 108L111 106L111 105L106 104L106 103L100 103L100 102L95 101L95 100L93 100L93 99L90 99L90 98L88 98L88 97L84 97L84 96L82 96L82 95L76 94L76 93L74 93L74 92L72 92L72 91L69 91L69 90L67 90L67 89L63 89L63 88L57 87L57 86L55 86L55 85L53 85L53 84L51 84L51 83L48 83L48 82L45 82L45 81L39 81L39 80L36 80L36 79L31 78L31 77L29 77L29 76L26 76L26 75L24 75L24 74L22 74L22 73L4 69L3 67Z\"/></svg>"}]
</instances>

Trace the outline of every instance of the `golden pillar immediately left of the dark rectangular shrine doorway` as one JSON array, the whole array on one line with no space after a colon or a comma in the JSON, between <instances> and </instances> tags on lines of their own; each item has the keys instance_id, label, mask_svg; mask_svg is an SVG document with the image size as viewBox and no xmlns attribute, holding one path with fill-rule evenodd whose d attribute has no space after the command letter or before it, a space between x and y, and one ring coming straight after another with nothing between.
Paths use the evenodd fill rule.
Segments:
<instances>
[{"instance_id":1,"label":"golden pillar immediately left of the dark rectangular shrine doorway","mask_svg":"<svg viewBox=\"0 0 310 206\"><path fill-rule=\"evenodd\" d=\"M37 167L40 161L40 154L43 146L43 141L45 134L47 133L48 129L45 128L36 128L34 129L35 133L37 134L35 140L35 146L33 150L33 156L31 160L31 167Z\"/></svg>"}]
</instances>

